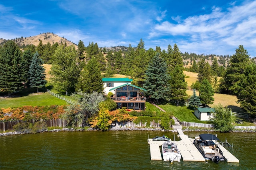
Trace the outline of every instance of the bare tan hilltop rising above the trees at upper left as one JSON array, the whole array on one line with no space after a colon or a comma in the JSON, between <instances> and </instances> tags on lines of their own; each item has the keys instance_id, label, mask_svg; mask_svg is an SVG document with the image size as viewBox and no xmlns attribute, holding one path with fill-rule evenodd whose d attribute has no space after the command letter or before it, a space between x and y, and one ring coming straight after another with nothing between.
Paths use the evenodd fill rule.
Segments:
<instances>
[{"instance_id":1,"label":"bare tan hilltop rising above the trees at upper left","mask_svg":"<svg viewBox=\"0 0 256 170\"><path fill-rule=\"evenodd\" d=\"M64 38L64 37L60 37L54 33L41 33L39 35L35 35L35 36L30 36L30 37L20 37L20 38L16 38L16 39L12 39L14 40L19 46L22 45L28 45L28 44L33 44L35 46L37 46L39 44L39 41L42 40L43 44L47 44L48 42L52 45L56 42L58 43L67 43L68 46L70 45L74 45L76 48L76 44L74 44L73 42L69 41L68 39ZM5 41L7 41L6 39L0 39L0 44L4 43Z\"/></svg>"}]
</instances>

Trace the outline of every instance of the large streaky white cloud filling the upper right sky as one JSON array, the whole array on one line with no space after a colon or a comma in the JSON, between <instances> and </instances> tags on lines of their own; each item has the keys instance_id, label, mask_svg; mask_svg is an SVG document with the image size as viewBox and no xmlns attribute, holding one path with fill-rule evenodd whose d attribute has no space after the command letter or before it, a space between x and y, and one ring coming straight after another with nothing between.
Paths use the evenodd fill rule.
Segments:
<instances>
[{"instance_id":1,"label":"large streaky white cloud filling the upper right sky","mask_svg":"<svg viewBox=\"0 0 256 170\"><path fill-rule=\"evenodd\" d=\"M204 50L209 53L221 52L222 48L233 49L246 45L256 49L256 1L246 1L240 6L231 6L228 11L213 6L210 14L189 16L184 20L172 17L154 25L148 38L157 39L163 36L174 36L180 50L200 54ZM230 46L227 46L230 45ZM212 52L210 52L212 51ZM253 50L255 51L255 50Z\"/></svg>"}]
</instances>

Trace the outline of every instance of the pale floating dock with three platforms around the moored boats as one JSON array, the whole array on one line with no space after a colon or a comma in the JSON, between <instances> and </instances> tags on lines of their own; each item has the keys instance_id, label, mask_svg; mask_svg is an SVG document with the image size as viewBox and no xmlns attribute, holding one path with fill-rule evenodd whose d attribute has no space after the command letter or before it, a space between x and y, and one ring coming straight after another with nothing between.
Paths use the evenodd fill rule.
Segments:
<instances>
[{"instance_id":1,"label":"pale floating dock with three platforms around the moored boats","mask_svg":"<svg viewBox=\"0 0 256 170\"><path fill-rule=\"evenodd\" d=\"M174 141L177 144L178 149L180 150L180 154L183 158L183 161L200 161L205 162L204 156L201 152L196 148L193 144L194 139L189 138L187 135L184 135L182 129L177 129L180 141ZM217 141L215 141L218 144ZM151 160L162 160L162 155L160 151L160 146L164 141L153 141L152 139L148 139L148 144L150 145L150 158ZM223 156L227 159L228 162L238 163L239 160L232 155L226 148L224 148L221 144L218 144L218 147L222 150Z\"/></svg>"}]
</instances>

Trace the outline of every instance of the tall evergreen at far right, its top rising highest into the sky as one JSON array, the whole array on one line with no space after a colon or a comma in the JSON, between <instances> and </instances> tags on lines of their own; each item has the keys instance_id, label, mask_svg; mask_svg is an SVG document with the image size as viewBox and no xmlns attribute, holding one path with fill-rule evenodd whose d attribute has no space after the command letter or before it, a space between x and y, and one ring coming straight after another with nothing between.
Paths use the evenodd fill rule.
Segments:
<instances>
[{"instance_id":1,"label":"tall evergreen at far right, its top rising highest into the sky","mask_svg":"<svg viewBox=\"0 0 256 170\"><path fill-rule=\"evenodd\" d=\"M236 49L236 53L232 56L226 73L223 77L222 91L228 94L237 95L241 88L238 84L244 78L244 70L250 64L247 50L242 45Z\"/></svg>"}]
</instances>

